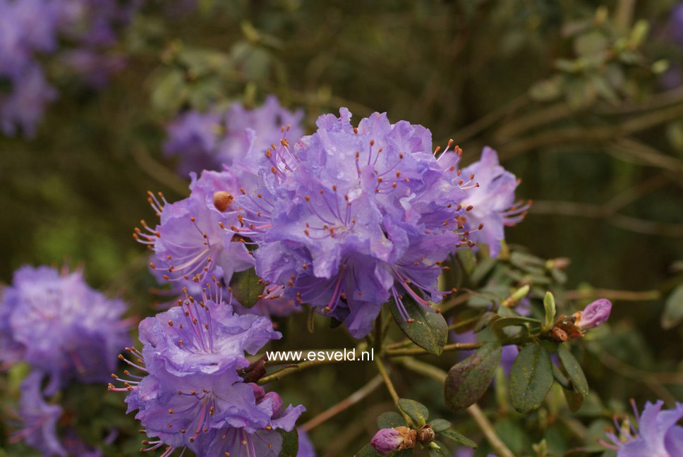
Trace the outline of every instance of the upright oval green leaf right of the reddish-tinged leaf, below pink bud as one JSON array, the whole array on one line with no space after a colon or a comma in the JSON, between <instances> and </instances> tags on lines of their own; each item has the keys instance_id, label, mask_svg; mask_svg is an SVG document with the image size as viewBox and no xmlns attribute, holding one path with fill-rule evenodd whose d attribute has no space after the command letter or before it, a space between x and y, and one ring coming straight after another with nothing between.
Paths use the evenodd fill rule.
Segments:
<instances>
[{"instance_id":1,"label":"upright oval green leaf right of the reddish-tinged leaf, below pink bud","mask_svg":"<svg viewBox=\"0 0 683 457\"><path fill-rule=\"evenodd\" d=\"M519 351L510 370L510 398L520 413L535 410L552 386L552 362L548 351L531 343Z\"/></svg>"}]
</instances>

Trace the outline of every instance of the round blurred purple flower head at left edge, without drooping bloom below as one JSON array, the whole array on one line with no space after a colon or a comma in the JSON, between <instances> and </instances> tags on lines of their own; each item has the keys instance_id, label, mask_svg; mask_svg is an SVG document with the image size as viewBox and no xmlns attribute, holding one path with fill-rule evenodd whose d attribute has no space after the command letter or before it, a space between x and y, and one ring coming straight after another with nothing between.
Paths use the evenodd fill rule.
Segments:
<instances>
[{"instance_id":1,"label":"round blurred purple flower head at left edge, without drooping bloom below","mask_svg":"<svg viewBox=\"0 0 683 457\"><path fill-rule=\"evenodd\" d=\"M106 382L129 340L127 306L85 284L83 274L22 267L0 302L4 362L23 360L49 374L46 394L70 379Z\"/></svg>"}]
</instances>

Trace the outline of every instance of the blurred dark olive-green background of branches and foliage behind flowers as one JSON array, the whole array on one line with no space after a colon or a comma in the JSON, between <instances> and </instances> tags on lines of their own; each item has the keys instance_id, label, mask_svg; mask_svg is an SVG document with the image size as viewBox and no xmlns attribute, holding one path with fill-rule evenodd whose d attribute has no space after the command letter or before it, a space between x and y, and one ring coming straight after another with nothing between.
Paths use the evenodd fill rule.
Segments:
<instances>
[{"instance_id":1,"label":"blurred dark olive-green background of branches and foliage behind flowers","mask_svg":"<svg viewBox=\"0 0 683 457\"><path fill-rule=\"evenodd\" d=\"M169 12L147 2L121 42L128 66L110 85L58 80L37 137L0 138L0 279L26 263L82 263L92 286L149 315L155 283L131 233L154 220L148 189L186 195L186 178L161 154L179 110L274 93L305 109L308 133L339 106L356 122L387 111L430 128L435 145L453 138L465 164L483 145L498 150L522 179L519 197L534 200L509 245L569 257L570 296L591 286L614 299L611 353L629 368L591 359L591 384L622 403L654 399L648 371L683 370L681 326L661 324L683 272L683 87L667 83L683 62L670 36L675 4L225 0ZM351 347L339 329L299 331L305 319L281 323L297 329L284 346ZM306 420L372 375L361 365L310 370L284 383L286 400L305 403ZM399 375L397 386L442 404L430 382ZM679 385L667 389L683 398ZM353 407L313 440L351 455L388 401L378 389L379 407Z\"/></svg>"}]
</instances>

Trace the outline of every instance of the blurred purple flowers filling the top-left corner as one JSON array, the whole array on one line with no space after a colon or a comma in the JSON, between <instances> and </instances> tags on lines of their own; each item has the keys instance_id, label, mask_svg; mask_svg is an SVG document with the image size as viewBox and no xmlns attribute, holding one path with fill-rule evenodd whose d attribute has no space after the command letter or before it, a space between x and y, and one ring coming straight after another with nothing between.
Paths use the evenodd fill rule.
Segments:
<instances>
[{"instance_id":1,"label":"blurred purple flowers filling the top-left corner","mask_svg":"<svg viewBox=\"0 0 683 457\"><path fill-rule=\"evenodd\" d=\"M0 130L35 135L44 108L56 98L40 57L59 54L60 38L73 47L61 56L88 83L100 86L123 61L107 56L115 29L127 23L140 1L0 0Z\"/></svg>"}]
</instances>

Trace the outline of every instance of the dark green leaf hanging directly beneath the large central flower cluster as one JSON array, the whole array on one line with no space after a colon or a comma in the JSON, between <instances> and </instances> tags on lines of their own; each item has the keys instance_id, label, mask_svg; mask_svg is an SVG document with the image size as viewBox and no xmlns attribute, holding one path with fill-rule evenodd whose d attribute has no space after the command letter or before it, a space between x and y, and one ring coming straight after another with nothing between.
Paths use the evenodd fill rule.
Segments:
<instances>
[{"instance_id":1,"label":"dark green leaf hanging directly beneath the large central flower cluster","mask_svg":"<svg viewBox=\"0 0 683 457\"><path fill-rule=\"evenodd\" d=\"M413 322L406 322L401 317L393 298L389 301L389 309L392 311L394 321L401 331L406 334L410 341L428 353L440 355L448 339L446 319L437 312L425 310L425 307L416 303L408 294L404 296L402 301Z\"/></svg>"}]
</instances>

